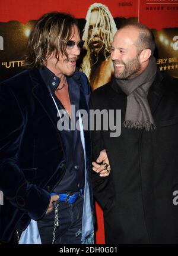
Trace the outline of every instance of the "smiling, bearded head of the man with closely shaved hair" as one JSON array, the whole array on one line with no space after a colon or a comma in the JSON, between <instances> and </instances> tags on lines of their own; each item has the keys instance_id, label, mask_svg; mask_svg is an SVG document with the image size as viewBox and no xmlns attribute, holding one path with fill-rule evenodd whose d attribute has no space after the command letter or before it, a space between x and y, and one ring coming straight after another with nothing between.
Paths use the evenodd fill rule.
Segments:
<instances>
[{"instance_id":1,"label":"smiling, bearded head of the man with closely shaved hair","mask_svg":"<svg viewBox=\"0 0 178 256\"><path fill-rule=\"evenodd\" d=\"M142 24L126 25L117 30L111 54L116 78L132 79L142 73L154 48L152 33Z\"/></svg>"}]
</instances>

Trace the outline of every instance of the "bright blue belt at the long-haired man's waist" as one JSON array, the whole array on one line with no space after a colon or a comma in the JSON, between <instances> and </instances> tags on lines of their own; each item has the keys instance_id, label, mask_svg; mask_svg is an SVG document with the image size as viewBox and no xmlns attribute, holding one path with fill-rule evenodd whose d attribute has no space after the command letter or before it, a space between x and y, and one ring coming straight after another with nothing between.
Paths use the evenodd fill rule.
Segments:
<instances>
[{"instance_id":1,"label":"bright blue belt at the long-haired man's waist","mask_svg":"<svg viewBox=\"0 0 178 256\"><path fill-rule=\"evenodd\" d=\"M50 193L50 195L59 195L59 202L69 202L69 204L74 204L82 193L84 193L84 187L74 193Z\"/></svg>"}]
</instances>

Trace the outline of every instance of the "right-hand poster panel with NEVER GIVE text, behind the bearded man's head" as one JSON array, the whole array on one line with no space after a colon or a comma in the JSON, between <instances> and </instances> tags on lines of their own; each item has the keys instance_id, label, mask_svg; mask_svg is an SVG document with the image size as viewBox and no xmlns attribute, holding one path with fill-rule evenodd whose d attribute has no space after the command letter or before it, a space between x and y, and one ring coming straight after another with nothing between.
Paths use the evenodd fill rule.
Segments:
<instances>
[{"instance_id":1,"label":"right-hand poster panel with NEVER GIVE text, behind the bearded man's head","mask_svg":"<svg viewBox=\"0 0 178 256\"><path fill-rule=\"evenodd\" d=\"M139 1L138 22L152 29L157 66L161 72L178 76L178 1Z\"/></svg>"}]
</instances>

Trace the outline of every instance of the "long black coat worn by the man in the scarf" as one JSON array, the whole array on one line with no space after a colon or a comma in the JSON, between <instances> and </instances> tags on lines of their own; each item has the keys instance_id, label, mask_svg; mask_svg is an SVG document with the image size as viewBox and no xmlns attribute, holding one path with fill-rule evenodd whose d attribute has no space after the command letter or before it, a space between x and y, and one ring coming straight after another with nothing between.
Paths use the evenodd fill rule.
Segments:
<instances>
[{"instance_id":1,"label":"long black coat worn by the man in the scarf","mask_svg":"<svg viewBox=\"0 0 178 256\"><path fill-rule=\"evenodd\" d=\"M96 89L92 109L121 110L126 95L114 83ZM106 243L178 243L178 80L157 72L148 92L156 130L93 132L93 160L106 148L112 168L103 179L93 172L94 196L104 210ZM116 118L116 116L115 116ZM177 200L178 201L178 200Z\"/></svg>"}]
</instances>

